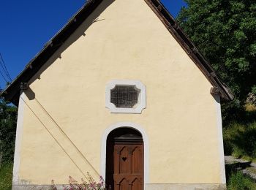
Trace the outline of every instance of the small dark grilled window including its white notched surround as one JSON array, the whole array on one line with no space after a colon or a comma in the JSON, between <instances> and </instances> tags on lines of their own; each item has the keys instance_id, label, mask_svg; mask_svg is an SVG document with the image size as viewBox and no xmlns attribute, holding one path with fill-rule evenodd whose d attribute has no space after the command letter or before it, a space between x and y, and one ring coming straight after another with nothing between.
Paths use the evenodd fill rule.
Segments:
<instances>
[{"instance_id":1,"label":"small dark grilled window including its white notched surround","mask_svg":"<svg viewBox=\"0 0 256 190\"><path fill-rule=\"evenodd\" d=\"M146 87L139 80L112 80L106 87L111 113L141 113L146 108Z\"/></svg>"}]
</instances>

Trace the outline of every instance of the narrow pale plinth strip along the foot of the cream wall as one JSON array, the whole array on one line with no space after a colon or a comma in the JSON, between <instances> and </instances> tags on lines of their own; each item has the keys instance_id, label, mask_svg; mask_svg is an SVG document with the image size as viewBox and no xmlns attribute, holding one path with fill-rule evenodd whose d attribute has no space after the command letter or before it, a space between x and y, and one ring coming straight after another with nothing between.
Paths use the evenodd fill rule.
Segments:
<instances>
[{"instance_id":1,"label":"narrow pale plinth strip along the foot of the cream wall","mask_svg":"<svg viewBox=\"0 0 256 190\"><path fill-rule=\"evenodd\" d=\"M56 186L64 189L62 185ZM46 190L50 185L13 185L12 190ZM145 184L146 190L225 190L226 184Z\"/></svg>"}]
</instances>

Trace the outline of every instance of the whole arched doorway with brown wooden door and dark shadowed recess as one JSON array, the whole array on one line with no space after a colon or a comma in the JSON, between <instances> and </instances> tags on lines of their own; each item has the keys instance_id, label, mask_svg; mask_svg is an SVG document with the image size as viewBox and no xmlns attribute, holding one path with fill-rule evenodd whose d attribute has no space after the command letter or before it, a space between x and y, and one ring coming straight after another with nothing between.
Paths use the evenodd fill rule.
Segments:
<instances>
[{"instance_id":1,"label":"whole arched doorway with brown wooden door and dark shadowed recess","mask_svg":"<svg viewBox=\"0 0 256 190\"><path fill-rule=\"evenodd\" d=\"M108 189L143 190L143 138L140 132L121 128L107 142L106 183Z\"/></svg>"}]
</instances>

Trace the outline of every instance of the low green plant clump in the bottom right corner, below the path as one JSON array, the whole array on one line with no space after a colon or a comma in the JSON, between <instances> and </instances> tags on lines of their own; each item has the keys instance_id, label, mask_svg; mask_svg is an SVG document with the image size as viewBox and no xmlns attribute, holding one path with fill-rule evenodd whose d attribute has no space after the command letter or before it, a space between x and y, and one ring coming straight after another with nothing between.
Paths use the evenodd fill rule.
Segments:
<instances>
[{"instance_id":1,"label":"low green plant clump in the bottom right corner, below the path","mask_svg":"<svg viewBox=\"0 0 256 190\"><path fill-rule=\"evenodd\" d=\"M243 175L242 172L233 172L227 180L227 190L256 189L256 183Z\"/></svg>"}]
</instances>

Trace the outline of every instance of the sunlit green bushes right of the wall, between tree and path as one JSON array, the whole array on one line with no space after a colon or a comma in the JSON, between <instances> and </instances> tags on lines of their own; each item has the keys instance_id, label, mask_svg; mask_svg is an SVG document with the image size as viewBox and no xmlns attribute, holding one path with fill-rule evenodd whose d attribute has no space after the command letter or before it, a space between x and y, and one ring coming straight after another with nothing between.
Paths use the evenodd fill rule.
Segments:
<instances>
[{"instance_id":1,"label":"sunlit green bushes right of the wall, between tree and path","mask_svg":"<svg viewBox=\"0 0 256 190\"><path fill-rule=\"evenodd\" d=\"M256 122L231 123L223 131L225 155L256 159Z\"/></svg>"}]
</instances>

